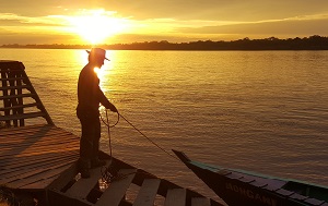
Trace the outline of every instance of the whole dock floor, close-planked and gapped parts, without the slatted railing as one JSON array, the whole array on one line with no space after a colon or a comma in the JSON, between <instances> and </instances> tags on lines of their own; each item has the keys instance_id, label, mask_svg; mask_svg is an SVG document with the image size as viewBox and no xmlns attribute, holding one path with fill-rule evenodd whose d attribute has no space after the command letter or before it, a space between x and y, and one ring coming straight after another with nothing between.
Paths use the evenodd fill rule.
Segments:
<instances>
[{"instance_id":1,"label":"whole dock floor, close-planked and gapped parts, without the slatted railing","mask_svg":"<svg viewBox=\"0 0 328 206\"><path fill-rule=\"evenodd\" d=\"M79 137L55 125L0 130L0 185L12 190L42 192L44 203L77 206L210 206L220 205L191 190L183 189L101 152L117 180L102 184L106 167L81 179L77 166Z\"/></svg>"}]
</instances>

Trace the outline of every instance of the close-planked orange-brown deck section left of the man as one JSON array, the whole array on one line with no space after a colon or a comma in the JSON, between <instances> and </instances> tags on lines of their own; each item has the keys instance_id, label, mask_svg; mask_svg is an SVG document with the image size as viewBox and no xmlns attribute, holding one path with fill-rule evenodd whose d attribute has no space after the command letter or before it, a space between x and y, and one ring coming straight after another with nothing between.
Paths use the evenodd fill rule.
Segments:
<instances>
[{"instance_id":1,"label":"close-planked orange-brown deck section left of the man","mask_svg":"<svg viewBox=\"0 0 328 206\"><path fill-rule=\"evenodd\" d=\"M55 125L0 130L0 185L44 190L79 158L79 137Z\"/></svg>"}]
</instances>

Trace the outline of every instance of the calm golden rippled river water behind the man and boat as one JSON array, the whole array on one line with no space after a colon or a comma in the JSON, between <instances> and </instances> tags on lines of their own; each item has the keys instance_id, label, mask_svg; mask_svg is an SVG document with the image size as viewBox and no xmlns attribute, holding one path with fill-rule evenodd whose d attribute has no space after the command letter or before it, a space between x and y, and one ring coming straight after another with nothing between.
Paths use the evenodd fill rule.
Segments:
<instances>
[{"instance_id":1,"label":"calm golden rippled river water behind the man and boat","mask_svg":"<svg viewBox=\"0 0 328 206\"><path fill-rule=\"evenodd\" d=\"M103 90L167 152L328 185L328 51L108 51L108 57ZM22 61L56 125L80 135L74 109L84 50L0 49L0 59ZM124 120L110 135L117 158L209 194L183 163ZM102 148L108 152L106 128Z\"/></svg>"}]
</instances>

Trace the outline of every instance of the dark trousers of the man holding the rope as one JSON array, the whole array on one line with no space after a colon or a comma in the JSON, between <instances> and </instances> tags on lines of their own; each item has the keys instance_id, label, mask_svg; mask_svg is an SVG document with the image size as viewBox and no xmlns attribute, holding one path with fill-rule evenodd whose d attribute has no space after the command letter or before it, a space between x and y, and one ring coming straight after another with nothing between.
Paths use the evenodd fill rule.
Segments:
<instances>
[{"instance_id":1,"label":"dark trousers of the man holding the rope","mask_svg":"<svg viewBox=\"0 0 328 206\"><path fill-rule=\"evenodd\" d=\"M82 136L80 140L80 167L90 168L98 159L101 122L98 118L80 118Z\"/></svg>"}]
</instances>

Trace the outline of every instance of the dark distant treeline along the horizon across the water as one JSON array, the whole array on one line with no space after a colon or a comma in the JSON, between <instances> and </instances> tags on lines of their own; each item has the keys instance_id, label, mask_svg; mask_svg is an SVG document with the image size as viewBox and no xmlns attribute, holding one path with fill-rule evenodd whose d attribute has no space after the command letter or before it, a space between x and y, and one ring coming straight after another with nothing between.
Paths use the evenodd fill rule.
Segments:
<instances>
[{"instance_id":1,"label":"dark distant treeline along the horizon across the water","mask_svg":"<svg viewBox=\"0 0 328 206\"><path fill-rule=\"evenodd\" d=\"M2 48L89 49L91 45L2 45ZM238 39L231 41L198 40L190 43L144 41L98 45L108 50L328 50L328 37Z\"/></svg>"}]
</instances>

